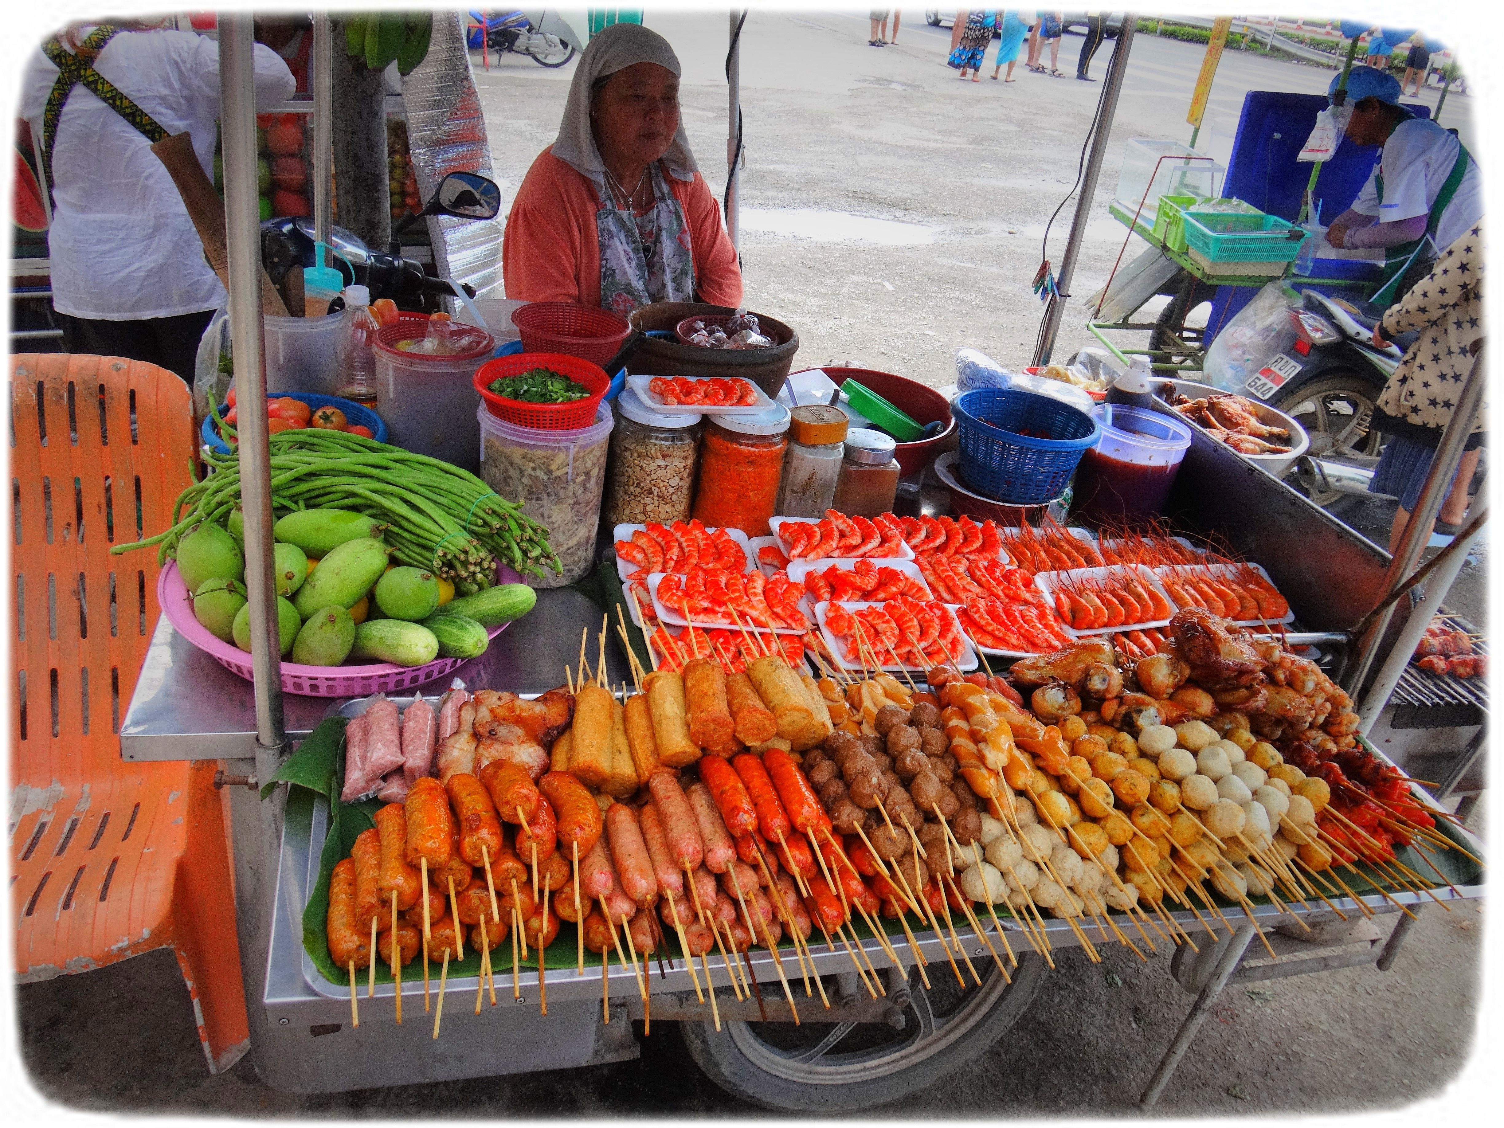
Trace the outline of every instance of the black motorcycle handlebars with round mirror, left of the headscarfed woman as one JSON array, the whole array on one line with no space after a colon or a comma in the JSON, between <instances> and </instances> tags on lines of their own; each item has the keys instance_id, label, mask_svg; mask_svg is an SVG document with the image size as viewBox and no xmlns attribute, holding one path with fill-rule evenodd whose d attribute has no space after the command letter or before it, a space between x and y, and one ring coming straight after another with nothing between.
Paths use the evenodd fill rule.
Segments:
<instances>
[{"instance_id":1,"label":"black motorcycle handlebars with round mirror, left of the headscarfed woman","mask_svg":"<svg viewBox=\"0 0 1504 1128\"><path fill-rule=\"evenodd\" d=\"M391 298L403 310L423 310L426 298L459 296L454 283L435 278L424 272L423 263L402 256L400 236L418 220L429 215L453 215L460 220L495 220L501 212L501 190L495 180L475 173L450 173L433 193L433 199L420 212L408 212L391 233L385 251L373 251L364 239L344 230L329 229L329 257L344 277L347 286L367 286L371 301ZM274 286L281 286L287 271L295 265L313 266L314 233L313 220L305 215L268 220L262 224L262 265ZM460 283L471 298L475 289ZM343 301L335 298L335 302ZM334 311L335 305L331 304Z\"/></svg>"}]
</instances>

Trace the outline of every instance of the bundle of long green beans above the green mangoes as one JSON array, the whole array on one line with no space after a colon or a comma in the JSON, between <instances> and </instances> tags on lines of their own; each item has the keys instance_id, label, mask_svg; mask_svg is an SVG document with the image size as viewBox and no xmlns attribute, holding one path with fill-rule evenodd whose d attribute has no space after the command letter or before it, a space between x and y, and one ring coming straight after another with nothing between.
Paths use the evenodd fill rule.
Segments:
<instances>
[{"instance_id":1,"label":"bundle of long green beans above the green mangoes","mask_svg":"<svg viewBox=\"0 0 1504 1128\"><path fill-rule=\"evenodd\" d=\"M233 433L223 421L220 429ZM559 572L547 529L457 466L314 427L277 432L269 445L274 508L343 508L374 517L388 526L382 538L397 559L444 576L463 594L495 584L498 559L538 579L544 569ZM170 529L110 552L156 544L164 561L199 522L224 525L241 504L241 465L233 454L209 453L206 460L214 474L182 492Z\"/></svg>"}]
</instances>

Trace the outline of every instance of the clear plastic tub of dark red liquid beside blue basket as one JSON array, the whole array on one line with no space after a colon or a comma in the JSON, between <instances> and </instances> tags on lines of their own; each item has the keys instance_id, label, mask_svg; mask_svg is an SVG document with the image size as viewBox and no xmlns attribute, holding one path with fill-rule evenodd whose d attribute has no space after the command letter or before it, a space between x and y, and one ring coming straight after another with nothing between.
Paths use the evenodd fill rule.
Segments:
<instances>
[{"instance_id":1,"label":"clear plastic tub of dark red liquid beside blue basket","mask_svg":"<svg viewBox=\"0 0 1504 1128\"><path fill-rule=\"evenodd\" d=\"M1092 418L1102 438L1075 469L1071 514L1101 528L1136 525L1163 513L1191 445L1190 426L1157 411L1110 403L1093 408Z\"/></svg>"}]
</instances>

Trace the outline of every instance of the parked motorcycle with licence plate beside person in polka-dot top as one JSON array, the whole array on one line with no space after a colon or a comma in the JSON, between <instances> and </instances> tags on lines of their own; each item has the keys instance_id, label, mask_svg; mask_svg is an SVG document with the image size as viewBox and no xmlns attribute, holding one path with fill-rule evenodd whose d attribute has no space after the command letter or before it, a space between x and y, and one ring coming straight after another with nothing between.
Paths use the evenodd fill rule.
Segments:
<instances>
[{"instance_id":1,"label":"parked motorcycle with licence plate beside person in polka-dot top","mask_svg":"<svg viewBox=\"0 0 1504 1128\"><path fill-rule=\"evenodd\" d=\"M1295 466L1305 495L1330 513L1372 499L1369 481L1384 435L1369 424L1379 393L1399 367L1415 334L1379 347L1373 326L1381 308L1301 293L1289 311L1295 340L1271 356L1244 385L1244 394L1295 418L1310 436L1310 453Z\"/></svg>"}]
</instances>

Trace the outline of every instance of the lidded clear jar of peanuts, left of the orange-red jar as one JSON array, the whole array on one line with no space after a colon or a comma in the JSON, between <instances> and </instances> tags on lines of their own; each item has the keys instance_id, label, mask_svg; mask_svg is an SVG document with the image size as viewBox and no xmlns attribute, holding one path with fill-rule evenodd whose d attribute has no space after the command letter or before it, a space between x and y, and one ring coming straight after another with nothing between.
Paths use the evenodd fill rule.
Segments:
<instances>
[{"instance_id":1,"label":"lidded clear jar of peanuts, left of the orange-red jar","mask_svg":"<svg viewBox=\"0 0 1504 1128\"><path fill-rule=\"evenodd\" d=\"M698 462L698 415L659 415L632 388L623 391L611 435L606 523L689 520Z\"/></svg>"}]
</instances>

